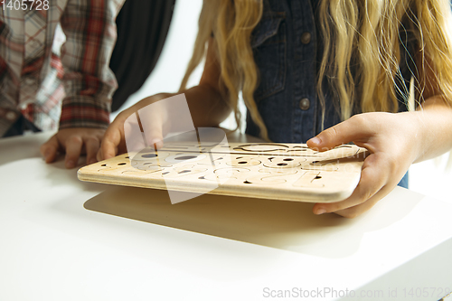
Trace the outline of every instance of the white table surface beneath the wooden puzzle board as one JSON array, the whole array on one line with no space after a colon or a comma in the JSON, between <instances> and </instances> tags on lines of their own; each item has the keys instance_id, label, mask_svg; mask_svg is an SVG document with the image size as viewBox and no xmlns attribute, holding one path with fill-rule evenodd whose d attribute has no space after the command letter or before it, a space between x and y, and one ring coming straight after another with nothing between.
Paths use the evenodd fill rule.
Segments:
<instances>
[{"instance_id":1,"label":"white table surface beneath the wooden puzzle board","mask_svg":"<svg viewBox=\"0 0 452 301\"><path fill-rule=\"evenodd\" d=\"M451 203L396 188L354 220L302 202L171 205L165 192L81 183L61 161L45 165L49 136L0 140L0 300L438 300L452 290Z\"/></svg>"}]
</instances>

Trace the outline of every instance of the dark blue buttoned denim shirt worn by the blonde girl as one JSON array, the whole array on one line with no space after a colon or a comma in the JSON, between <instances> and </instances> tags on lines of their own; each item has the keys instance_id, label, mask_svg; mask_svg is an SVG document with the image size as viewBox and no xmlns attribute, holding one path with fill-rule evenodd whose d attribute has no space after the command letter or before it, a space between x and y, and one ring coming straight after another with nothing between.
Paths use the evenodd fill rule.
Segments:
<instances>
[{"instance_id":1,"label":"dark blue buttoned denim shirt worn by the blonde girl","mask_svg":"<svg viewBox=\"0 0 452 301\"><path fill-rule=\"evenodd\" d=\"M316 92L322 42L315 24L318 0L264 0L262 19L251 36L251 48L259 70L259 86L254 93L260 116L274 142L306 143L322 129L322 108ZM414 51L412 34L401 33L400 50ZM402 51L398 84L409 89L410 71L416 70L412 58ZM324 85L325 86L325 85ZM324 128L341 122L334 108L334 95L324 89ZM406 110L401 95L400 111ZM337 101L337 100L336 100ZM353 114L360 113L354 111ZM259 136L257 127L247 116L246 133ZM408 174L402 186L407 187Z\"/></svg>"}]
</instances>

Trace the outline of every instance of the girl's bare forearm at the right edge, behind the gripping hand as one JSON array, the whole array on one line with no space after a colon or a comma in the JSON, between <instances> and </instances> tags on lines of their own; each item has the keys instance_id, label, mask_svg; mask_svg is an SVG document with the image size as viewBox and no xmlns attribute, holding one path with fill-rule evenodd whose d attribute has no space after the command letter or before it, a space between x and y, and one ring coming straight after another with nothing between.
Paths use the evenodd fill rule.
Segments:
<instances>
[{"instance_id":1,"label":"girl's bare forearm at the right edge, behind the gripping hand","mask_svg":"<svg viewBox=\"0 0 452 301\"><path fill-rule=\"evenodd\" d=\"M414 163L442 155L452 149L452 107L440 97L431 97L423 109L411 112L417 125L415 139L418 143Z\"/></svg>"}]
</instances>

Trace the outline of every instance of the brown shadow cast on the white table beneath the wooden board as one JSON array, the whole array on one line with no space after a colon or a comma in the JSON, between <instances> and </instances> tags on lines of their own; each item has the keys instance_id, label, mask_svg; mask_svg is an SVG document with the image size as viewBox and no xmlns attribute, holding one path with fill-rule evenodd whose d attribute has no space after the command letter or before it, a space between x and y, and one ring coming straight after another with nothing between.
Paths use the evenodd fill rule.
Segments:
<instances>
[{"instance_id":1,"label":"brown shadow cast on the white table beneath the wooden board","mask_svg":"<svg viewBox=\"0 0 452 301\"><path fill-rule=\"evenodd\" d=\"M394 202L402 195L401 202ZM422 198L418 193L400 188L381 201L391 202L391 212L386 212L389 204L378 203L370 212L353 220L335 214L316 216L312 213L313 204L307 202L204 194L172 205L166 191L119 186L100 193L85 202L84 207L225 239L343 258L359 248L365 232L400 221Z\"/></svg>"}]
</instances>

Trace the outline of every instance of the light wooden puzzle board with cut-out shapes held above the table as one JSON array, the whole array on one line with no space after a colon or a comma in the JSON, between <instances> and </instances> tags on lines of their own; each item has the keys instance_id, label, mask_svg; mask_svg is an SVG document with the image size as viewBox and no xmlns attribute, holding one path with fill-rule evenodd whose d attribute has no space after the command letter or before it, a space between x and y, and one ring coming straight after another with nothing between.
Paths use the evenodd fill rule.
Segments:
<instances>
[{"instance_id":1,"label":"light wooden puzzle board with cut-out shapes held above the table","mask_svg":"<svg viewBox=\"0 0 452 301\"><path fill-rule=\"evenodd\" d=\"M352 145L320 153L303 144L176 142L82 167L78 176L187 193L337 202L353 193L365 156L364 148Z\"/></svg>"}]
</instances>

